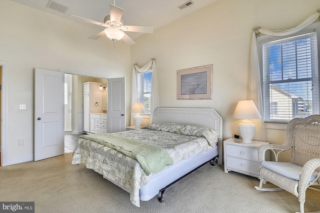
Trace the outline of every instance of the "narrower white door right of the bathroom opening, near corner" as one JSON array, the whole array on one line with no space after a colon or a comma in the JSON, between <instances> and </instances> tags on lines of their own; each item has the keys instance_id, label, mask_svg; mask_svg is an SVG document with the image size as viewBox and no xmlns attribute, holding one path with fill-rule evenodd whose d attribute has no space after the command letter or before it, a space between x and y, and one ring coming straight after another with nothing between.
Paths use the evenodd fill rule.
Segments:
<instances>
[{"instance_id":1,"label":"narrower white door right of the bathroom opening, near corner","mask_svg":"<svg viewBox=\"0 0 320 213\"><path fill-rule=\"evenodd\" d=\"M125 78L107 81L108 133L125 131Z\"/></svg>"}]
</instances>

